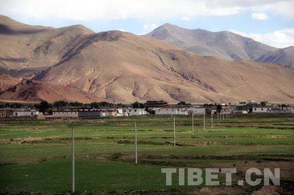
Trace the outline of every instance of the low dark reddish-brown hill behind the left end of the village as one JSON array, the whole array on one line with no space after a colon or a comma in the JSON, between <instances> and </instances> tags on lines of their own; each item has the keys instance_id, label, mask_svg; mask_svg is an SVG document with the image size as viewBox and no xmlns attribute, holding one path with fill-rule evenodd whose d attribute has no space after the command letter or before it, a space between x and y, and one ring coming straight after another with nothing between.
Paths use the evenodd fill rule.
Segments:
<instances>
[{"instance_id":1,"label":"low dark reddish-brown hill behind the left end of the village","mask_svg":"<svg viewBox=\"0 0 294 195\"><path fill-rule=\"evenodd\" d=\"M27 102L47 100L49 103L59 100L68 102L78 101L83 103L107 101L73 87L55 86L42 81L26 79L14 87L10 87L6 91L0 92L0 99Z\"/></svg>"}]
</instances>

